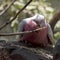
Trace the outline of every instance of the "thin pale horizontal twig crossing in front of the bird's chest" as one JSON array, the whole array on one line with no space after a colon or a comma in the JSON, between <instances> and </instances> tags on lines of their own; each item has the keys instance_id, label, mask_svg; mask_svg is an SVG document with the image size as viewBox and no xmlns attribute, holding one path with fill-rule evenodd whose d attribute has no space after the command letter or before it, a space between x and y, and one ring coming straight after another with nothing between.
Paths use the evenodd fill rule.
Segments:
<instances>
[{"instance_id":1,"label":"thin pale horizontal twig crossing in front of the bird's chest","mask_svg":"<svg viewBox=\"0 0 60 60\"><path fill-rule=\"evenodd\" d=\"M24 31L24 32L16 32L16 33L0 33L0 36L13 36L13 35L29 34L29 33L33 33L33 32L38 32L38 31L40 31L44 28L45 27L38 28L38 29L35 29L35 30L32 30L32 31Z\"/></svg>"}]
</instances>

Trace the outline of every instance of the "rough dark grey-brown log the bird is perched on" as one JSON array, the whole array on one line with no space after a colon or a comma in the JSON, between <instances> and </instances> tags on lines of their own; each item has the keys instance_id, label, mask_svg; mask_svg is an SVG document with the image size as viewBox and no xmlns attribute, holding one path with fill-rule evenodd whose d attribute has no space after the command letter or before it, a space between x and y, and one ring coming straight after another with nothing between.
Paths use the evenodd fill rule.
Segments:
<instances>
[{"instance_id":1,"label":"rough dark grey-brown log the bird is perched on","mask_svg":"<svg viewBox=\"0 0 60 60\"><path fill-rule=\"evenodd\" d=\"M52 53L19 42L0 42L0 60L52 60ZM3 53L3 54L2 54Z\"/></svg>"}]
</instances>

